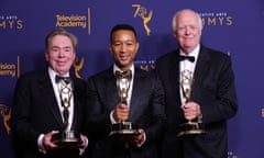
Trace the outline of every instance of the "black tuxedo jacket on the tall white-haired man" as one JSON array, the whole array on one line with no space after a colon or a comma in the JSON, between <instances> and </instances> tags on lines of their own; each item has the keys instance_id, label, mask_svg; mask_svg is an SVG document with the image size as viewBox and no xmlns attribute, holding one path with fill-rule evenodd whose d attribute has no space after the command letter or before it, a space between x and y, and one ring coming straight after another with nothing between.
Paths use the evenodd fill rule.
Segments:
<instances>
[{"instance_id":1,"label":"black tuxedo jacket on the tall white-haired man","mask_svg":"<svg viewBox=\"0 0 264 158\"><path fill-rule=\"evenodd\" d=\"M168 122L164 158L226 158L227 120L234 116L238 110L230 56L201 45L194 74L191 100L201 106L207 133L177 138L178 125L186 122L180 109L178 55L179 49L156 60L156 72L165 89Z\"/></svg>"}]
</instances>

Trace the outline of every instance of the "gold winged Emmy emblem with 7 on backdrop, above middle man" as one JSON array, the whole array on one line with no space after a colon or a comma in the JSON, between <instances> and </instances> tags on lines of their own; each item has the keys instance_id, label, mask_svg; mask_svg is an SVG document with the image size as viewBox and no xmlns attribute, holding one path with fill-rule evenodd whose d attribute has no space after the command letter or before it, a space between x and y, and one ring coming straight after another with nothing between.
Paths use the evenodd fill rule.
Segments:
<instances>
[{"instance_id":1,"label":"gold winged Emmy emblem with 7 on backdrop, above middle man","mask_svg":"<svg viewBox=\"0 0 264 158\"><path fill-rule=\"evenodd\" d=\"M140 16L142 19L146 35L151 35L151 29L147 23L152 20L153 11L147 12L146 8L141 4L132 4L132 7L135 8L134 18Z\"/></svg>"}]
</instances>

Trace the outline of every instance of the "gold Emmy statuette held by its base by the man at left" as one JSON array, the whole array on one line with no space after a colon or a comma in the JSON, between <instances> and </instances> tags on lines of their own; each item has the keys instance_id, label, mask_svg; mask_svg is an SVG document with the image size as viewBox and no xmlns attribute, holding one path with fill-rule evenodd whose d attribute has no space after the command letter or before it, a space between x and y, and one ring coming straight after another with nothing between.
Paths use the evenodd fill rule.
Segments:
<instances>
[{"instance_id":1,"label":"gold Emmy statuette held by its base by the man at left","mask_svg":"<svg viewBox=\"0 0 264 158\"><path fill-rule=\"evenodd\" d=\"M64 108L64 129L58 134L53 136L53 143L61 145L63 147L74 147L81 144L79 132L73 131L69 127L69 106L70 99L73 95L73 82L70 78L62 78L62 84L59 88L59 98L62 101L62 106Z\"/></svg>"}]
</instances>

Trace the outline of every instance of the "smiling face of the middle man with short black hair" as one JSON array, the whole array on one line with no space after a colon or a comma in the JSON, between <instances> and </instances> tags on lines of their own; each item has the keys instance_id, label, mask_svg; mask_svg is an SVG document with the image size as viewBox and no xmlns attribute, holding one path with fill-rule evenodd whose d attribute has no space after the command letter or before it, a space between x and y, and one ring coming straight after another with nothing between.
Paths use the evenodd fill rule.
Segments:
<instances>
[{"instance_id":1,"label":"smiling face of the middle man with short black hair","mask_svg":"<svg viewBox=\"0 0 264 158\"><path fill-rule=\"evenodd\" d=\"M113 54L117 66L122 70L129 69L139 49L135 34L130 30L113 32L109 49Z\"/></svg>"}]
</instances>

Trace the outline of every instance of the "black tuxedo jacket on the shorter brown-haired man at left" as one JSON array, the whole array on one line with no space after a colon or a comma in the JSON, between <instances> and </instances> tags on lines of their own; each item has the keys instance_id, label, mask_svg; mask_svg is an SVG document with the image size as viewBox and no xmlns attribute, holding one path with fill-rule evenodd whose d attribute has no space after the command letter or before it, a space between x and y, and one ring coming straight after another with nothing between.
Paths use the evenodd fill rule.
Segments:
<instances>
[{"instance_id":1,"label":"black tuxedo jacket on the shorter brown-haired man at left","mask_svg":"<svg viewBox=\"0 0 264 158\"><path fill-rule=\"evenodd\" d=\"M74 121L73 129L81 132L85 82L74 80ZM37 149L37 137L51 131L62 131L63 120L47 69L22 75L15 86L11 126L18 157L48 157ZM72 154L56 153L69 157ZM51 155L51 157L54 157ZM75 156L76 157L76 156Z\"/></svg>"}]
</instances>

